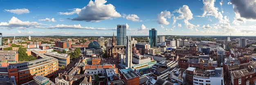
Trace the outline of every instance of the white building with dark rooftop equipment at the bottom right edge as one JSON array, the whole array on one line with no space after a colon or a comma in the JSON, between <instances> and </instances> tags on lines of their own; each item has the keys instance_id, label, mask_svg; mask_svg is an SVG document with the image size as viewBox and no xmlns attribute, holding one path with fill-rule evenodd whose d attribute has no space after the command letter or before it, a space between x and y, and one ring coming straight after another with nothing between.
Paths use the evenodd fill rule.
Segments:
<instances>
[{"instance_id":1,"label":"white building with dark rooftop equipment at the bottom right edge","mask_svg":"<svg viewBox=\"0 0 256 85\"><path fill-rule=\"evenodd\" d=\"M224 85L223 68L215 70L205 70L204 72L195 72L193 76L193 85Z\"/></svg>"}]
</instances>

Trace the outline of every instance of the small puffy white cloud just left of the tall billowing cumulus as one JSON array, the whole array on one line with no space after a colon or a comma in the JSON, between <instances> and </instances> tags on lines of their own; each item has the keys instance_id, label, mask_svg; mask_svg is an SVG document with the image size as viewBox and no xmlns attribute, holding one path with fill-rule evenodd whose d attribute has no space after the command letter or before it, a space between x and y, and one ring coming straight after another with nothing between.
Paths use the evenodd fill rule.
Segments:
<instances>
[{"instance_id":1,"label":"small puffy white cloud just left of the tall billowing cumulus","mask_svg":"<svg viewBox=\"0 0 256 85\"><path fill-rule=\"evenodd\" d=\"M167 21L167 18L171 18L171 12L170 11L162 11L161 13L158 14L157 17L157 23L163 24L163 25L168 25L169 22Z\"/></svg>"}]
</instances>

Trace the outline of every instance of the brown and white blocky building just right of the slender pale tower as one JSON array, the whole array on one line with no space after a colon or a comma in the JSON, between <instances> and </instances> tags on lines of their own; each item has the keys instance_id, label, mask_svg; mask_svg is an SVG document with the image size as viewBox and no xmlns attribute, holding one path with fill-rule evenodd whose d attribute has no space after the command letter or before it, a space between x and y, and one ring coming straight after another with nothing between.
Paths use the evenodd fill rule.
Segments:
<instances>
[{"instance_id":1,"label":"brown and white blocky building just right of the slender pale tower","mask_svg":"<svg viewBox=\"0 0 256 85\"><path fill-rule=\"evenodd\" d=\"M145 53L148 54L148 49L150 49L150 45L146 43L137 43L135 44L135 47L137 50L139 50L141 55L144 55Z\"/></svg>"}]
</instances>

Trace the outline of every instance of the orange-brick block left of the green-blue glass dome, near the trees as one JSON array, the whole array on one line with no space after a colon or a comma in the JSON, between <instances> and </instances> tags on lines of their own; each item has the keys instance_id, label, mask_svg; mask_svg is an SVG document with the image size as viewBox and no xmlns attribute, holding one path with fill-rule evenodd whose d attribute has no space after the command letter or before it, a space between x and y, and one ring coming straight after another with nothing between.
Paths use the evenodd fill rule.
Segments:
<instances>
[{"instance_id":1,"label":"orange-brick block left of the green-blue glass dome, near the trees","mask_svg":"<svg viewBox=\"0 0 256 85\"><path fill-rule=\"evenodd\" d=\"M71 39L68 38L67 40L60 40L55 42L56 47L60 47L63 49L69 49L71 47Z\"/></svg>"}]
</instances>

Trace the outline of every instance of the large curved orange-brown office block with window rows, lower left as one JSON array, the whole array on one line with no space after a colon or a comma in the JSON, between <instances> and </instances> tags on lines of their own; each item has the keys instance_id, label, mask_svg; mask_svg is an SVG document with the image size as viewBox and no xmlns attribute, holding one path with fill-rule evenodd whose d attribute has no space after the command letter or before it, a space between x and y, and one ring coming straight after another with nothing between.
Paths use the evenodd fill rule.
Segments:
<instances>
[{"instance_id":1,"label":"large curved orange-brown office block with window rows, lower left","mask_svg":"<svg viewBox=\"0 0 256 85\"><path fill-rule=\"evenodd\" d=\"M42 75L47 78L53 77L58 72L58 60L54 57L46 56L29 62L9 64L7 68L9 77L14 76L17 85L21 85L32 81L34 75Z\"/></svg>"}]
</instances>

